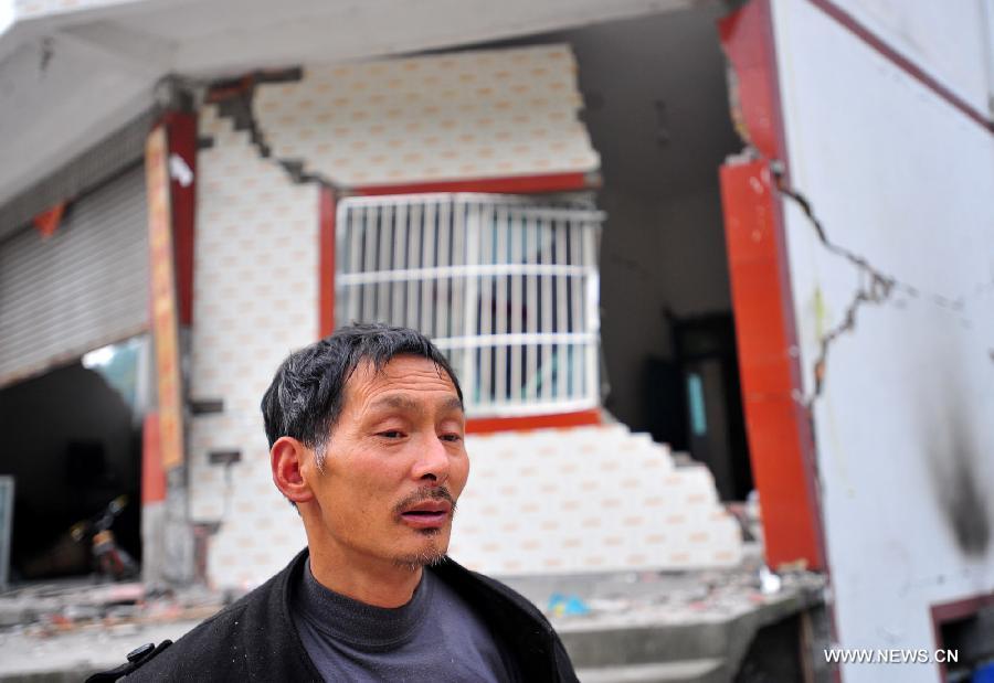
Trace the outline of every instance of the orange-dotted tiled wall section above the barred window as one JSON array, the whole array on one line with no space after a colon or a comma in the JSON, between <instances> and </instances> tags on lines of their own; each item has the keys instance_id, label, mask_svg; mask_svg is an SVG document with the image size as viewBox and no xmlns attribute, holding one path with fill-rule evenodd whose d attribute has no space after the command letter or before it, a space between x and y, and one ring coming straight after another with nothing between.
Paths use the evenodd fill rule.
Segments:
<instances>
[{"instance_id":1,"label":"orange-dotted tiled wall section above the barred window","mask_svg":"<svg viewBox=\"0 0 994 683\"><path fill-rule=\"evenodd\" d=\"M346 186L594 171L581 107L568 45L313 66L254 99L276 157Z\"/></svg>"}]
</instances>

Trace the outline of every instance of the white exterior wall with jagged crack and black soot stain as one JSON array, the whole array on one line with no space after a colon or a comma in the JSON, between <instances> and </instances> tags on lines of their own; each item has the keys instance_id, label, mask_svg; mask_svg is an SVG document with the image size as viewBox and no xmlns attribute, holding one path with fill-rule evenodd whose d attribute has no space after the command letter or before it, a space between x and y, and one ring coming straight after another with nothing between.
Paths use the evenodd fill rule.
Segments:
<instances>
[{"instance_id":1,"label":"white exterior wall with jagged crack and black soot stain","mask_svg":"<svg viewBox=\"0 0 994 683\"><path fill-rule=\"evenodd\" d=\"M773 6L792 183L831 241L907 285L858 309L814 402L839 644L932 648L931 605L994 590L994 137L812 3ZM960 21L921 45L972 40L970 12L934 11ZM867 282L785 206L811 395L821 338ZM844 669L847 683L937 675Z\"/></svg>"}]
</instances>

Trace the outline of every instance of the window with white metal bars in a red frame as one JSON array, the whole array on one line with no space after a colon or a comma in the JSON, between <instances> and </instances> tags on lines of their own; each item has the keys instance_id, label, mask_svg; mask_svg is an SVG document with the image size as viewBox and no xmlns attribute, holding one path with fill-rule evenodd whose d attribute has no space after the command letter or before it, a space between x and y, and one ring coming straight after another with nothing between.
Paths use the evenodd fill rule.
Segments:
<instances>
[{"instance_id":1,"label":"window with white metal bars in a red frame","mask_svg":"<svg viewBox=\"0 0 994 683\"><path fill-rule=\"evenodd\" d=\"M584 200L342 200L336 319L430 337L459 375L473 417L596 407L603 217Z\"/></svg>"}]
</instances>

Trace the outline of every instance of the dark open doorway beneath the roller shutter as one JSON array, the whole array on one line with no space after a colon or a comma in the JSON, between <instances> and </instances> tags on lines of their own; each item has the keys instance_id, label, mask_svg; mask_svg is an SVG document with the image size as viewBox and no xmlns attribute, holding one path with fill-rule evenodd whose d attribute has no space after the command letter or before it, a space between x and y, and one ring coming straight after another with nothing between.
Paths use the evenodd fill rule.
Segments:
<instances>
[{"instance_id":1,"label":"dark open doorway beneath the roller shutter","mask_svg":"<svg viewBox=\"0 0 994 683\"><path fill-rule=\"evenodd\" d=\"M112 531L140 561L145 338L0 389L0 476L14 481L10 578L91 574L89 537L74 525L117 501Z\"/></svg>"}]
</instances>

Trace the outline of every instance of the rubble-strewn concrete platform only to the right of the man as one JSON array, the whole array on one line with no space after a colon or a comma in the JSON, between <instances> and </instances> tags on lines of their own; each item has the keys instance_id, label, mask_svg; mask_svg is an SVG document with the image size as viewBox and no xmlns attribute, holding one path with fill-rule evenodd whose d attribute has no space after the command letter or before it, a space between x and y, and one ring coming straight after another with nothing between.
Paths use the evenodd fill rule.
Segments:
<instances>
[{"instance_id":1,"label":"rubble-strewn concrete platform only to the right of the man","mask_svg":"<svg viewBox=\"0 0 994 683\"><path fill-rule=\"evenodd\" d=\"M757 655L750 647L761 633L795 620L793 628L781 628L773 642L769 637L760 642L761 650L778 652L773 659L780 653L795 657L805 647L800 642L796 620L818 610L824 579L804 572L766 574L763 579L760 566L759 549L753 547L743 565L731 570L505 580L550 616L581 681L753 680L737 679L747 661L751 670L760 673L754 680L795 680L763 672L769 664L763 661L766 654ZM816 648L814 643L807 647ZM796 662L797 680L805 665ZM826 680L823 672L810 673L815 680Z\"/></svg>"}]
</instances>

